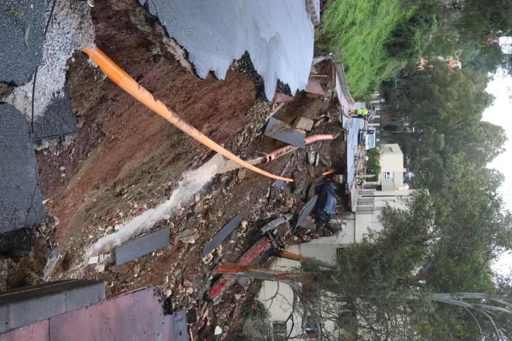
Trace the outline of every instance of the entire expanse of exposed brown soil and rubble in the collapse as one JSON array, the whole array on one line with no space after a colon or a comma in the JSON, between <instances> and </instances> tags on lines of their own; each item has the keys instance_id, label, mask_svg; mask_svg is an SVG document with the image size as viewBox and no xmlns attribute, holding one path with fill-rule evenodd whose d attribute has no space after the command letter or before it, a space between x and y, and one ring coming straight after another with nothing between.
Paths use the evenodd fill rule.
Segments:
<instances>
[{"instance_id":1,"label":"entire expanse of exposed brown soil and rubble in the collapse","mask_svg":"<svg viewBox=\"0 0 512 341\"><path fill-rule=\"evenodd\" d=\"M284 145L263 135L271 104L258 99L262 86L255 85L247 60L234 62L224 81L199 80L167 50L155 18L134 1L95 5L92 19L98 46L184 120L246 160ZM341 134L295 151L286 171L291 154L259 165L274 174L293 176L295 183L283 189L250 171L220 174L191 202L183 202L154 226L172 226L170 246L121 266L84 267L84 253L91 244L167 199L184 171L213 154L105 79L84 54L76 53L69 63L67 81L80 122L78 134L71 144L54 145L36 155L42 193L49 199L47 210L60 219L56 250L63 257L51 280L98 278L107 282L107 295L159 285L172 295L175 309L199 309L214 266L211 258L202 259L202 245L241 213L247 224L215 252L222 261L236 262L266 222L302 209L313 179L331 167L345 167ZM329 77L321 82L332 88L330 67L323 67L322 73ZM302 93L275 117L288 123L298 116L315 121L331 118L310 133L340 133L335 112L335 102ZM309 150L322 155L318 166L308 164ZM194 243L178 239L186 229L195 232ZM320 233L317 230L310 238ZM247 295L255 291L251 292ZM216 325L227 330L240 312L243 295L242 287L229 290L219 305L208 309L211 324L202 321L193 334L211 339L208 335Z\"/></svg>"}]
</instances>

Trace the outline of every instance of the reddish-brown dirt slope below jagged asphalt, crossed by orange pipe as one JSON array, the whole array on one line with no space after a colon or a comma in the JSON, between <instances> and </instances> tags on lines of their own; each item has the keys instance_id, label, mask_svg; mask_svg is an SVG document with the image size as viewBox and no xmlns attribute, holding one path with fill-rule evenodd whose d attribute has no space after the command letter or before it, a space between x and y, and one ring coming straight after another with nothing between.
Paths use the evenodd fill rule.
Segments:
<instances>
[{"instance_id":1,"label":"reddish-brown dirt slope below jagged asphalt, crossed by orange pipe","mask_svg":"<svg viewBox=\"0 0 512 341\"><path fill-rule=\"evenodd\" d=\"M97 44L127 73L218 143L247 123L255 101L249 77L229 72L225 81L197 79L165 50L153 17L131 1L113 5L99 2L93 9ZM83 53L71 63L68 82L82 122L76 141L37 155L42 191L52 198L48 209L61 221L59 239L76 235L93 202L98 207L102 200L108 209L109 201L144 178L144 185L159 187L207 152L104 79ZM61 166L65 171L59 171Z\"/></svg>"}]
</instances>

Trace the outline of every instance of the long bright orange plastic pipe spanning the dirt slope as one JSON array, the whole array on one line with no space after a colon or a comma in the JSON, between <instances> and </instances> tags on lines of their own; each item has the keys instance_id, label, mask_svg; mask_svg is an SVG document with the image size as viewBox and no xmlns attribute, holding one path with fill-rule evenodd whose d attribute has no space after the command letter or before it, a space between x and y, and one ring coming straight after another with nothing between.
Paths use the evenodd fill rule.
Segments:
<instances>
[{"instance_id":1,"label":"long bright orange plastic pipe spanning the dirt slope","mask_svg":"<svg viewBox=\"0 0 512 341\"><path fill-rule=\"evenodd\" d=\"M89 57L100 67L101 71L109 77L114 83L119 85L125 92L132 95L139 102L155 111L158 115L174 124L178 129L189 135L191 138L201 142L206 147L215 150L218 153L221 153L225 157L229 158L229 160L237 163L238 165L250 169L251 171L260 173L262 175L268 176L272 179L283 180L292 182L293 179L282 177L278 175L274 175L268 173L264 170L261 170L257 167L248 164L243 161L237 155L234 155L229 150L221 147L214 141L208 139L202 132L183 121L183 119L178 116L177 113L170 110L165 104L163 104L160 100L153 97L153 95L148 92L145 88L143 88L137 81L135 81L129 74L124 72L119 65L117 65L112 59L110 59L107 55L103 53L97 46L84 48L83 52L87 53Z\"/></svg>"}]
</instances>

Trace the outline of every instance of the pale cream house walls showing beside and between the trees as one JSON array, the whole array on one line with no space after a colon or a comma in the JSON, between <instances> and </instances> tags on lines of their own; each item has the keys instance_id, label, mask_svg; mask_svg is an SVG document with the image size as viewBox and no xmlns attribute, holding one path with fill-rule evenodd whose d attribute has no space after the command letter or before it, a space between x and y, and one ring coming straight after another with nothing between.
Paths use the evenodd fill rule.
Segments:
<instances>
[{"instance_id":1,"label":"pale cream house walls showing beside and between the trees","mask_svg":"<svg viewBox=\"0 0 512 341\"><path fill-rule=\"evenodd\" d=\"M351 247L360 243L368 229L382 230L379 215L384 207L390 205L398 209L406 209L407 198L415 193L415 190L404 189L403 184L403 154L397 144L383 144L381 151L381 170L378 180L368 188L358 188L356 197L352 198L352 212L338 217L344 225L343 231L339 231L330 237L313 239L308 243L288 245L287 250L303 256L314 257L329 263L334 263L339 248ZM272 265L273 269L289 270L300 266L300 263L287 259L278 259ZM298 314L289 319L291 312L290 302L293 301L293 293L286 284L265 281L259 293L259 299L270 313L276 339L281 335L301 334L302 317ZM333 328L335 328L333 326Z\"/></svg>"}]
</instances>

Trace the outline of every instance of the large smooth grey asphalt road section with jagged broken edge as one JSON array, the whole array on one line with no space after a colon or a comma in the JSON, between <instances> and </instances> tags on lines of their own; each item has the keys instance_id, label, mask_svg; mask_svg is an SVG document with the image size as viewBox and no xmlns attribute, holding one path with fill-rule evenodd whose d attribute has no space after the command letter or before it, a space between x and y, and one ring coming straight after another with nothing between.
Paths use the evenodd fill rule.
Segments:
<instances>
[{"instance_id":1,"label":"large smooth grey asphalt road section with jagged broken edge","mask_svg":"<svg viewBox=\"0 0 512 341\"><path fill-rule=\"evenodd\" d=\"M140 2L188 52L199 77L204 79L213 71L224 79L233 60L247 51L263 77L268 100L278 80L288 84L292 95L306 87L314 29L304 1Z\"/></svg>"}]
</instances>

